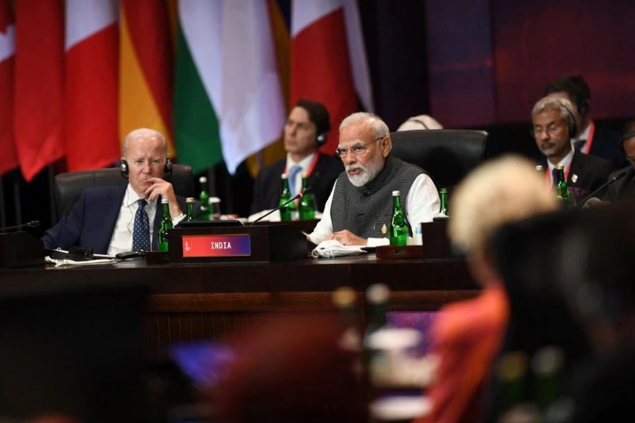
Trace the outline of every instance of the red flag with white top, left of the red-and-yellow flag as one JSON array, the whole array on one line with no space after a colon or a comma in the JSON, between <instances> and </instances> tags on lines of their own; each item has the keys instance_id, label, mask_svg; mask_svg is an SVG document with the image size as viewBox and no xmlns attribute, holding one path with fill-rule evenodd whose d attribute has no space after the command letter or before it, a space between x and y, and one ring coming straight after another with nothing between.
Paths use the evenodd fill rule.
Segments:
<instances>
[{"instance_id":1,"label":"red flag with white top, left of the red-and-yellow flag","mask_svg":"<svg viewBox=\"0 0 635 423\"><path fill-rule=\"evenodd\" d=\"M66 166L119 159L116 0L66 1Z\"/></svg>"}]
</instances>

